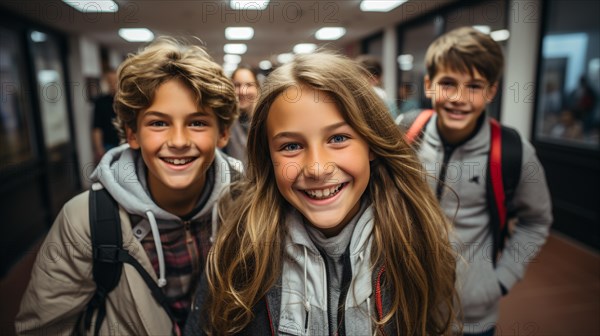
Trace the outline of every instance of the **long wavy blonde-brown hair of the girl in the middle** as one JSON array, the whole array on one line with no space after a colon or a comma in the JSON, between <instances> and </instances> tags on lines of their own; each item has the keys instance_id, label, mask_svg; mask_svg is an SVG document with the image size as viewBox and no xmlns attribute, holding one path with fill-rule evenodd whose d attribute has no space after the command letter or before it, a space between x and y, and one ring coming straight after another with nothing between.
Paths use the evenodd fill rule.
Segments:
<instances>
[{"instance_id":1,"label":"long wavy blonde-brown hair of the girl in the middle","mask_svg":"<svg viewBox=\"0 0 600 336\"><path fill-rule=\"evenodd\" d=\"M281 275L288 205L275 184L266 124L273 101L292 86L333 98L376 156L363 196L374 213L371 263L374 270L385 266L391 306L375 323L394 323L400 335L451 333L455 257L449 225L420 162L367 76L354 61L319 52L296 56L266 79L248 137L247 176L220 203L223 226L207 261L207 333L241 331Z\"/></svg>"}]
</instances>

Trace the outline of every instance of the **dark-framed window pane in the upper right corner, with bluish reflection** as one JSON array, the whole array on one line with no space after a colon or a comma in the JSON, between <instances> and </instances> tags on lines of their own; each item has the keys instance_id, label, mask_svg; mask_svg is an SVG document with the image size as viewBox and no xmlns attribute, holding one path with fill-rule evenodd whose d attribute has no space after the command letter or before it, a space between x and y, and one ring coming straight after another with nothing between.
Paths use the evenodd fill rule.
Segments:
<instances>
[{"instance_id":1,"label":"dark-framed window pane in the upper right corner, with bluish reflection","mask_svg":"<svg viewBox=\"0 0 600 336\"><path fill-rule=\"evenodd\" d=\"M535 138L598 150L600 3L550 1L546 5Z\"/></svg>"}]
</instances>

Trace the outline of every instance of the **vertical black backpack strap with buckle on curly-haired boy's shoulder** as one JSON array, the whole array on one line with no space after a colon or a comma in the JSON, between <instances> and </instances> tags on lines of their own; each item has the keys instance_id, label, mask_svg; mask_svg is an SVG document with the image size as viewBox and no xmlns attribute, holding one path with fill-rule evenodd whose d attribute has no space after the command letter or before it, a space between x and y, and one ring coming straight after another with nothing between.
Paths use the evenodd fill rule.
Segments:
<instances>
[{"instance_id":1,"label":"vertical black backpack strap with buckle on curly-haired boy's shoulder","mask_svg":"<svg viewBox=\"0 0 600 336\"><path fill-rule=\"evenodd\" d=\"M119 207L105 189L90 191L89 213L96 292L85 311L84 325L86 330L90 329L94 311L98 310L94 328L94 335L98 335L106 316L108 293L121 278L123 263L118 260L118 253L122 251L123 237Z\"/></svg>"}]
</instances>

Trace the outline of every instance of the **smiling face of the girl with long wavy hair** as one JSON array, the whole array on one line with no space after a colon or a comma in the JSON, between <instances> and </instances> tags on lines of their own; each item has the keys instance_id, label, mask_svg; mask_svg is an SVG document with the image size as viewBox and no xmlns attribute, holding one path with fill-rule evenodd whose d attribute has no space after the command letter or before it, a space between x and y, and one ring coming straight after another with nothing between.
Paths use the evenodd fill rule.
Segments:
<instances>
[{"instance_id":1,"label":"smiling face of the girl with long wavy hair","mask_svg":"<svg viewBox=\"0 0 600 336\"><path fill-rule=\"evenodd\" d=\"M304 86L275 99L267 136L282 196L326 236L339 233L357 213L369 183L367 143L331 98Z\"/></svg>"}]
</instances>

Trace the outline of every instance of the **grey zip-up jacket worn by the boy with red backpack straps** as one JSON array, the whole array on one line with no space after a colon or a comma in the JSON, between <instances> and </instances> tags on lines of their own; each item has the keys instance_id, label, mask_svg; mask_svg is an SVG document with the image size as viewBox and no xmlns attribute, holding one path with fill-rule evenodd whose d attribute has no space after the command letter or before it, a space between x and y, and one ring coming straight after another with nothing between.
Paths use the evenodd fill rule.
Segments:
<instances>
[{"instance_id":1,"label":"grey zip-up jacket worn by the boy with red backpack straps","mask_svg":"<svg viewBox=\"0 0 600 336\"><path fill-rule=\"evenodd\" d=\"M482 118L471 138L445 151L436 126L437 115L433 115L424 128L418 150L429 175L428 182L434 192L440 191L440 204L454 223L452 244L461 257L457 263L457 289L465 333L494 327L502 297L501 285L510 291L523 278L527 265L546 241L552 223L544 169L533 146L521 138L521 178L508 204L508 209L514 210L517 224L494 267L485 182L491 130L488 118ZM444 181L439 181L442 175Z\"/></svg>"}]
</instances>

